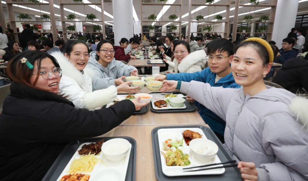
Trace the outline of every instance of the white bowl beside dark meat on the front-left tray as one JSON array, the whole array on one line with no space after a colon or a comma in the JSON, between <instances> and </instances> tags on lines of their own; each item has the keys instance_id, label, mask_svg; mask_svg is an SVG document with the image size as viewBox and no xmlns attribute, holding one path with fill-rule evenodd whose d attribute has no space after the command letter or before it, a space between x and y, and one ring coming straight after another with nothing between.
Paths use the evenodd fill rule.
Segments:
<instances>
[{"instance_id":1,"label":"white bowl beside dark meat on the front-left tray","mask_svg":"<svg viewBox=\"0 0 308 181\"><path fill-rule=\"evenodd\" d=\"M123 159L129 150L130 143L123 138L114 138L106 141L102 145L102 153L106 159L118 162Z\"/></svg>"}]
</instances>

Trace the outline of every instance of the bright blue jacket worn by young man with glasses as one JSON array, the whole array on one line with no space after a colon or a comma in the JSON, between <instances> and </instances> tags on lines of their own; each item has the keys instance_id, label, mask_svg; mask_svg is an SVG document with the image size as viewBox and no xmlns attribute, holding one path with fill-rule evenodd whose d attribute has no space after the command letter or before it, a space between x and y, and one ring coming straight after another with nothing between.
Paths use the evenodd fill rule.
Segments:
<instances>
[{"instance_id":1,"label":"bright blue jacket worn by young man with glasses","mask_svg":"<svg viewBox=\"0 0 308 181\"><path fill-rule=\"evenodd\" d=\"M215 83L216 74L213 73L209 67L203 69L200 72L195 73L178 73L178 74L166 74L167 80L177 80L177 81L184 81L190 82L192 80L209 83L211 86L214 87L224 87L224 88L240 88L241 86L235 83L234 78L232 76L232 72L225 77L219 79ZM209 125L209 127L216 133L220 135L224 135L226 122L218 117L215 113L210 111L208 108L203 106L202 104L195 101L194 103L200 111L198 112L204 122Z\"/></svg>"}]
</instances>

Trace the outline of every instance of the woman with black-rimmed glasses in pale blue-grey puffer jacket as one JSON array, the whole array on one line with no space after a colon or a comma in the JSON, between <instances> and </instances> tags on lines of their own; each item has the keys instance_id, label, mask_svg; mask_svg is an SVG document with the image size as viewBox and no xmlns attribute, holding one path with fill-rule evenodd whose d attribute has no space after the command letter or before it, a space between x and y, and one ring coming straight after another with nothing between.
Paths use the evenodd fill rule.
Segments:
<instances>
[{"instance_id":1,"label":"woman with black-rimmed glasses in pale blue-grey puffer jacket","mask_svg":"<svg viewBox=\"0 0 308 181\"><path fill-rule=\"evenodd\" d=\"M113 44L108 40L100 41L97 51L90 53L86 69L89 69L87 72L92 79L93 91L106 89L111 85L120 86L125 77L138 75L136 67L115 60L114 54Z\"/></svg>"}]
</instances>

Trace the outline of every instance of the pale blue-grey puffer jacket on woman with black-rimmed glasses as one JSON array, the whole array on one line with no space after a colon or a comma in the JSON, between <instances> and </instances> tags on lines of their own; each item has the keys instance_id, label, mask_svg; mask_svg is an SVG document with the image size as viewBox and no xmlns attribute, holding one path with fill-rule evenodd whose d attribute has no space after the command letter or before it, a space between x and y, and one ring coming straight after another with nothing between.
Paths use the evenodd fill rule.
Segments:
<instances>
[{"instance_id":1,"label":"pale blue-grey puffer jacket on woman with black-rimmed glasses","mask_svg":"<svg viewBox=\"0 0 308 181\"><path fill-rule=\"evenodd\" d=\"M111 85L116 86L116 78L130 76L132 70L137 70L136 67L125 65L123 62L113 58L113 60L108 63L108 72L106 72L102 64L95 59L95 55L96 52L90 53L90 59L86 66L87 73L92 79L93 91L106 89Z\"/></svg>"}]
</instances>

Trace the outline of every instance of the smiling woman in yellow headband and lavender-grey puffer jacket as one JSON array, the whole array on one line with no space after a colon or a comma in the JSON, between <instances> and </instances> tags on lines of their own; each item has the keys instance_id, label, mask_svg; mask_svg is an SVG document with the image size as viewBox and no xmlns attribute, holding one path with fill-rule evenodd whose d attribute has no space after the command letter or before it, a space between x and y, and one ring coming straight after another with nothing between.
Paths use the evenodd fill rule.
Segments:
<instances>
[{"instance_id":1,"label":"smiling woman in yellow headband and lavender-grey puffer jacket","mask_svg":"<svg viewBox=\"0 0 308 181\"><path fill-rule=\"evenodd\" d=\"M308 179L308 100L265 86L274 59L270 44L249 38L239 45L232 74L242 88L164 80L160 91L180 89L225 120L225 148L244 180Z\"/></svg>"}]
</instances>

